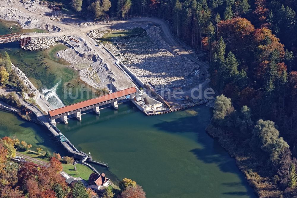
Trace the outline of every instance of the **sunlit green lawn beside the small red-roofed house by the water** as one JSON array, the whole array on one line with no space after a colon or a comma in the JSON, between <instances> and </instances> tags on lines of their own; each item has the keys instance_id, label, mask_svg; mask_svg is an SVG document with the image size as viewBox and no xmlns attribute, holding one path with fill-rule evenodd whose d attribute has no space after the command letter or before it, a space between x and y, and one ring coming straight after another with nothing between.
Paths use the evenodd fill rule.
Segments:
<instances>
[{"instance_id":1,"label":"sunlit green lawn beside the small red-roofed house by the water","mask_svg":"<svg viewBox=\"0 0 297 198\"><path fill-rule=\"evenodd\" d=\"M71 175L72 177L81 177L84 180L89 180L89 177L93 171L83 165L83 164L62 164L63 171L66 172L68 175ZM74 166L76 166L77 172L74 171Z\"/></svg>"}]
</instances>

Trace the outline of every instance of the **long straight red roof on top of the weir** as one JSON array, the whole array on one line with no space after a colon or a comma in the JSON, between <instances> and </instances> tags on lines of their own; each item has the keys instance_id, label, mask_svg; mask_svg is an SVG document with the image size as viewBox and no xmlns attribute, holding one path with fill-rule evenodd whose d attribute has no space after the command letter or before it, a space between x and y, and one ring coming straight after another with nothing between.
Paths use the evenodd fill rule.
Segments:
<instances>
[{"instance_id":1,"label":"long straight red roof on top of the weir","mask_svg":"<svg viewBox=\"0 0 297 198\"><path fill-rule=\"evenodd\" d=\"M75 104L72 104L72 105L64 106L64 107L61 107L59 109L48 111L48 113L49 113L50 117L53 117L53 116L56 116L56 115L67 113L69 111L75 111L75 110L78 110L78 109L85 108L87 106L91 106L91 105L102 103L102 102L105 102L105 101L108 101L108 100L113 100L113 99L116 99L116 98L120 98L120 97L123 97L125 95L132 94L132 93L136 93L136 88L135 87L131 87L131 88L124 89L124 90L121 90L121 91L118 91L118 92L103 95L103 96L100 96L100 97L97 97L97 98L85 100L85 101L75 103Z\"/></svg>"}]
</instances>

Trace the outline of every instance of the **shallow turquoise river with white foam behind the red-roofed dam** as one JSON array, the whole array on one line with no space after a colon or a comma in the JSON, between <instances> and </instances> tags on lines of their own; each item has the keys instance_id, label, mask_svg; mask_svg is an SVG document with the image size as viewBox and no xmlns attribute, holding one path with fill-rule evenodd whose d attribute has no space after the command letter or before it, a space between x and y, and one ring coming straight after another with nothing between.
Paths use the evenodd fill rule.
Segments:
<instances>
[{"instance_id":1,"label":"shallow turquoise river with white foam behind the red-roofed dam","mask_svg":"<svg viewBox=\"0 0 297 198\"><path fill-rule=\"evenodd\" d=\"M0 35L10 33L7 24L0 21ZM66 61L53 57L58 46L44 51L25 51L20 49L18 42L0 44L0 52L7 51L11 62L25 73L42 94L48 95L47 100L54 108L80 102L87 95L92 96L92 91L82 91L88 85L79 79L78 71L70 68ZM78 97L70 98L69 90L74 96L76 89Z\"/></svg>"}]
</instances>

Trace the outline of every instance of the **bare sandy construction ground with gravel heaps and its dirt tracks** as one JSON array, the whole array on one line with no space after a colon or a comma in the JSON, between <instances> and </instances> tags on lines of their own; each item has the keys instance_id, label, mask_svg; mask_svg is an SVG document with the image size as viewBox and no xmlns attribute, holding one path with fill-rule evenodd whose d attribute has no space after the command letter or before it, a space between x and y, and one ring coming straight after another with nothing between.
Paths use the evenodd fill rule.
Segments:
<instances>
[{"instance_id":1,"label":"bare sandy construction ground with gravel heaps and its dirt tracks","mask_svg":"<svg viewBox=\"0 0 297 198\"><path fill-rule=\"evenodd\" d=\"M71 17L66 21L63 18L57 20L57 12L51 12L48 8L40 5L40 1L31 3L24 0L20 3L17 0L2 0L0 5L0 19L17 21L23 28L48 29L51 33L31 34L31 37L48 37L73 35L79 38L79 43L73 43L70 49L59 52L59 56L69 61L77 70L87 84L97 88L106 86L112 91L135 86L116 65L115 60L104 49L97 46L97 43L86 34L92 29L111 28L120 29L131 26L145 28L148 22L158 24L162 30L161 36L170 47L180 56L185 56L195 62L200 67L200 73L204 77L203 84L208 85L208 64L195 58L195 54L190 49L185 50L182 45L170 32L169 24L158 18L137 17L123 21L112 21L108 23L74 23ZM72 23L73 22L73 23ZM76 45L76 46L75 46Z\"/></svg>"}]
</instances>

